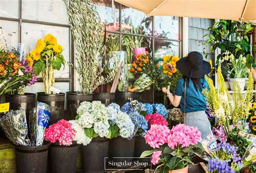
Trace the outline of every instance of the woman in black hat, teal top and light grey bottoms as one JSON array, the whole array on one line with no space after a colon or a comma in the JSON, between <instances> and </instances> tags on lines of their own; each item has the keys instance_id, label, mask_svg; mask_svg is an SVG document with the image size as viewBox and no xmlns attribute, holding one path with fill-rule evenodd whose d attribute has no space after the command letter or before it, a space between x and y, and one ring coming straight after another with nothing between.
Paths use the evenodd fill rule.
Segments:
<instances>
[{"instance_id":1,"label":"woman in black hat, teal top and light grey bottoms","mask_svg":"<svg viewBox=\"0 0 256 173\"><path fill-rule=\"evenodd\" d=\"M212 133L210 121L205 113L206 99L202 93L204 88L208 89L204 76L210 73L211 65L203 60L199 52L190 52L187 57L177 62L177 68L183 78L178 81L175 95L166 88L162 88L162 91L167 94L173 106L180 105L181 111L185 113L184 123L197 127L202 133L201 138L204 139Z\"/></svg>"}]
</instances>

